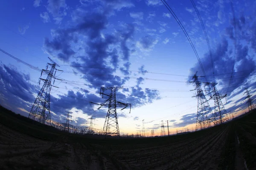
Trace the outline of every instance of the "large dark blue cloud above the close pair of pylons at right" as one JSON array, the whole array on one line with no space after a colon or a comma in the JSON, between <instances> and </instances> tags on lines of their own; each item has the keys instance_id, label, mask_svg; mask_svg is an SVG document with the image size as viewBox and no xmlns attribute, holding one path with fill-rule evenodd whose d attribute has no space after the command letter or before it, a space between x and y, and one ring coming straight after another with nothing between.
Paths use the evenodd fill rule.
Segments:
<instances>
[{"instance_id":1,"label":"large dark blue cloud above the close pair of pylons at right","mask_svg":"<svg viewBox=\"0 0 256 170\"><path fill-rule=\"evenodd\" d=\"M252 57L248 55L248 47L245 45L237 45L237 55L236 59L234 59L230 55L230 51L228 51L229 45L226 39L222 39L221 42L218 43L215 49L212 49L212 59L214 62L214 72L216 75L222 74L222 76L215 77L213 79L212 76L207 77L209 82L217 81L219 85L224 86L226 89L219 90L220 93L228 93L230 94L237 87L243 86L247 81L248 77L250 77L256 67L256 64ZM212 75L212 66L210 62L210 56L208 53L204 55L204 58L201 59L202 65L204 67L204 71L206 75ZM247 71L244 71L247 70ZM194 74L195 71L198 71L198 75L202 75L201 68L199 64L196 64L195 67L190 69L190 74ZM225 74L234 72L231 80L231 74ZM241 76L241 71L242 75ZM230 81L230 82L229 82ZM227 91L227 87L230 84L230 88Z\"/></svg>"}]
</instances>

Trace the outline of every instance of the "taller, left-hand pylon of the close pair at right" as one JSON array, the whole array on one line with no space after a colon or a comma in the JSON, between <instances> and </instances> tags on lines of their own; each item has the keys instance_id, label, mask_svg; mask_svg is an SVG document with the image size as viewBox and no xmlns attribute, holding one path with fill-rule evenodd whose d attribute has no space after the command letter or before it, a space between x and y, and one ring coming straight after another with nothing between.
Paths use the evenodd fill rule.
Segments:
<instances>
[{"instance_id":1,"label":"taller, left-hand pylon of the close pair at right","mask_svg":"<svg viewBox=\"0 0 256 170\"><path fill-rule=\"evenodd\" d=\"M197 109L197 118L196 118L196 126L195 130L204 129L210 127L211 119L214 119L214 115L212 113L212 109L206 99L204 92L201 88L201 82L198 80L197 72L192 77L193 82L195 83L195 89L197 91L197 95L193 97L197 97L198 99L198 109ZM211 114L209 117L208 114Z\"/></svg>"}]
</instances>

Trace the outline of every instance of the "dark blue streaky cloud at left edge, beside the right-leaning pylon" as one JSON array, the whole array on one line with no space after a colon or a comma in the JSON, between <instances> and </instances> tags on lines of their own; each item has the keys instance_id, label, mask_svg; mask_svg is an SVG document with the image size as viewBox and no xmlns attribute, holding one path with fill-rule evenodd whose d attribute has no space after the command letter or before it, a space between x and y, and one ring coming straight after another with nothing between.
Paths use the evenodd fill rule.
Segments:
<instances>
[{"instance_id":1,"label":"dark blue streaky cloud at left edge, beside the right-leaning pylon","mask_svg":"<svg viewBox=\"0 0 256 170\"><path fill-rule=\"evenodd\" d=\"M29 83L30 75L15 66L0 65L0 103L4 107L28 116L39 87ZM21 109L20 109L21 108ZM25 111L24 111L25 110Z\"/></svg>"}]
</instances>

